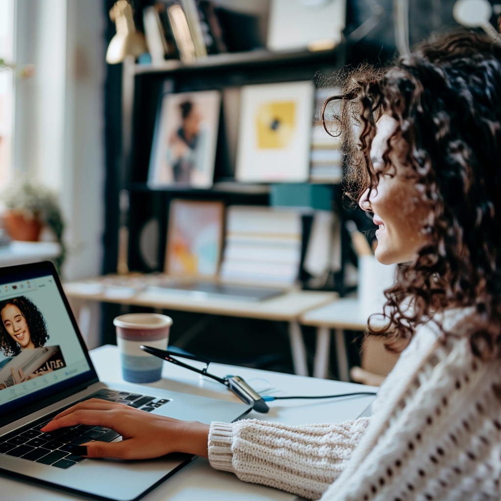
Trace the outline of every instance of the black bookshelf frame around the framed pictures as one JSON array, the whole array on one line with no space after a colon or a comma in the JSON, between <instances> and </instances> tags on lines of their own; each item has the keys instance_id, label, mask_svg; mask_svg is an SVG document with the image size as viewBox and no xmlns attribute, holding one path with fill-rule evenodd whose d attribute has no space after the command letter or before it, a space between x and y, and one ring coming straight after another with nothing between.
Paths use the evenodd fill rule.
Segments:
<instances>
[{"instance_id":1,"label":"black bookshelf frame around the framed pictures","mask_svg":"<svg viewBox=\"0 0 501 501\"><path fill-rule=\"evenodd\" d=\"M131 271L151 272L163 269L168 207L172 198L222 200L226 205L268 205L271 186L266 183L241 183L233 177L221 124L216 148L214 184L210 189L150 189L147 173L153 138L158 99L165 82L173 92L223 90L248 84L264 84L312 80L325 85L333 73L344 65L345 47L318 52L271 52L258 49L241 53L209 55L192 64L165 60L161 64L138 64L132 58L122 65L121 75L121 149L117 155L114 193L108 200L118 206L120 193L128 197L128 210L109 207L114 221L107 224L106 233L118 235L120 224L129 228L128 261ZM221 121L222 122L222 121ZM330 183L332 184L332 183ZM333 187L334 197L334 187ZM108 202L109 203L109 202ZM113 203L113 202L112 202ZM138 249L138 239L145 223L158 221L158 270L145 266ZM107 246L105 273L114 272L113 258L117 242Z\"/></svg>"}]
</instances>

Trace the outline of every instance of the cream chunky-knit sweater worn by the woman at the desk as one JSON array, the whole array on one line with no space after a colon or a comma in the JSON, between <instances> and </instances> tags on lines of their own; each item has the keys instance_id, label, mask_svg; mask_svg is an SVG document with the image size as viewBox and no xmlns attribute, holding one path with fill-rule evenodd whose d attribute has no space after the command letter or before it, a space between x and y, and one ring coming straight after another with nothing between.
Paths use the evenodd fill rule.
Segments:
<instances>
[{"instance_id":1,"label":"cream chunky-knit sweater worn by the woman at the desk","mask_svg":"<svg viewBox=\"0 0 501 501\"><path fill-rule=\"evenodd\" d=\"M449 312L449 330L464 312ZM248 482L326 501L501 499L501 362L420 327L371 418L286 426L213 422L209 461Z\"/></svg>"}]
</instances>

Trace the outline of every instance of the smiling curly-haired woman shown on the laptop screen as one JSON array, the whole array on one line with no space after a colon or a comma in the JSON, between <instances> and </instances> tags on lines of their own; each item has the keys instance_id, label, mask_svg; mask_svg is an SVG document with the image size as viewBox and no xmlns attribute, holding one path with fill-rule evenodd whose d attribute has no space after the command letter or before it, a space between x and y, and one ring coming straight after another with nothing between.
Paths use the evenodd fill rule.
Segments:
<instances>
[{"instance_id":1,"label":"smiling curly-haired woman shown on the laptop screen","mask_svg":"<svg viewBox=\"0 0 501 501\"><path fill-rule=\"evenodd\" d=\"M44 316L27 297L19 296L2 301L0 303L0 317L2 318L0 351L9 357L0 362L0 369L12 360L12 357L19 355L22 350L40 348L47 343L49 333ZM51 372L45 370L36 374L24 374L22 369L11 369L11 371L15 384ZM5 384L0 383L0 389L5 387Z\"/></svg>"}]
</instances>

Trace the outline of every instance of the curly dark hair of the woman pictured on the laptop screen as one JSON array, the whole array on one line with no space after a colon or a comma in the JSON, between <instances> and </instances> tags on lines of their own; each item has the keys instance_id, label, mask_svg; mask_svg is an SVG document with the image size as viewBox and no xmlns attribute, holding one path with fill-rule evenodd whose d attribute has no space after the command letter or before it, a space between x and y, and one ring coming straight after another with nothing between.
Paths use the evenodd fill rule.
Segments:
<instances>
[{"instance_id":1,"label":"curly dark hair of the woman pictured on the laptop screen","mask_svg":"<svg viewBox=\"0 0 501 501\"><path fill-rule=\"evenodd\" d=\"M21 315L25 317L35 348L44 346L49 339L49 333L47 332L47 324L44 316L37 306L26 296L18 296L17 298L6 299L0 302L0 314L7 305L17 306ZM19 355L21 347L7 332L4 322L0 322L0 324L0 350L8 357Z\"/></svg>"}]
</instances>

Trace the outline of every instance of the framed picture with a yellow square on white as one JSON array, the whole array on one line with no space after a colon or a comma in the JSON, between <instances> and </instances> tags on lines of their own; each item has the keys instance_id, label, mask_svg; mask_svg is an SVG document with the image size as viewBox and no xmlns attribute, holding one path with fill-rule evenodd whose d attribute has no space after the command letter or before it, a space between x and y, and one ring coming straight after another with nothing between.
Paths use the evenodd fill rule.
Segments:
<instances>
[{"instance_id":1,"label":"framed picture with a yellow square on white","mask_svg":"<svg viewBox=\"0 0 501 501\"><path fill-rule=\"evenodd\" d=\"M236 179L308 179L315 87L312 82L242 87Z\"/></svg>"}]
</instances>

